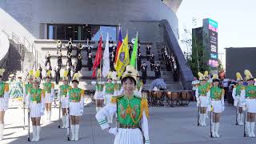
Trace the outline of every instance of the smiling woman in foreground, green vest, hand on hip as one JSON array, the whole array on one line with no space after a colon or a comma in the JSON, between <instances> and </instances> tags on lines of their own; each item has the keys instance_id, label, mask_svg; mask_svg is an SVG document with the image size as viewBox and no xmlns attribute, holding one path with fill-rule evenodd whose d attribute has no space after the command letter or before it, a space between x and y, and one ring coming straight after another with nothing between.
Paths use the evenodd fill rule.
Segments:
<instances>
[{"instance_id":1,"label":"smiling woman in foreground, green vest, hand on hip","mask_svg":"<svg viewBox=\"0 0 256 144\"><path fill-rule=\"evenodd\" d=\"M137 73L133 66L126 66L121 80L124 94L112 97L110 104L95 116L102 130L108 130L110 134L115 135L114 144L150 143L147 100L134 95ZM118 126L111 128L106 122L106 117L113 114L118 115Z\"/></svg>"}]
</instances>

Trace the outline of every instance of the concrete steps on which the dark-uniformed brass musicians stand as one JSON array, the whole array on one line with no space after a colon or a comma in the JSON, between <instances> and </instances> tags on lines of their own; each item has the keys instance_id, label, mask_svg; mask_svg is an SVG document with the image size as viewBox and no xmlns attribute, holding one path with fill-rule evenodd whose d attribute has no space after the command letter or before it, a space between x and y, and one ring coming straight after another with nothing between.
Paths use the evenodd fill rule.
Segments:
<instances>
[{"instance_id":1,"label":"concrete steps on which the dark-uniformed brass musicians stand","mask_svg":"<svg viewBox=\"0 0 256 144\"><path fill-rule=\"evenodd\" d=\"M81 42L83 44L85 43L85 41L74 41L74 44L78 44L78 42ZM64 47L66 43L67 43L67 41L62 41L62 47ZM98 44L97 44L97 42L92 42L92 43L94 46L92 53L95 56ZM104 42L103 47L105 47L105 43L106 42ZM114 42L114 43L117 43L117 42ZM140 51L142 52L142 55L146 54L146 45L148 43L151 43L153 45L151 48L151 52L154 53L155 63L157 63L157 62L161 63L159 58L161 58L162 45L158 44L161 42L154 42L154 43L140 42L140 43L141 43ZM48 39L38 39L38 40L34 41L34 44L36 47L41 49L42 58L44 58L44 56L46 55L46 52L49 51L49 53L51 55L51 58L50 58L51 66L54 70L54 67L57 66L57 56L58 56L56 41L48 40ZM66 66L66 61L67 61L66 51L67 51L66 48L62 48L62 64L63 64L62 69ZM76 50L72 50L72 55L75 55L75 54L76 54ZM81 86L82 89L85 89L85 90L94 90L95 88L93 85L91 85L91 81L95 81L95 79L90 78L92 71L89 71L88 67L86 66L87 65L86 55L87 55L86 50L82 50L82 70L80 72L80 75L82 75L82 77L80 78L79 86ZM38 60L38 62L42 62L42 59ZM43 59L43 62L45 62L45 59ZM76 62L76 58L72 58L72 63L74 64L74 62ZM94 58L93 58L93 62L94 62ZM146 62L146 65L148 66L148 69L147 69L148 77L147 77L146 85L144 85L144 88L150 89L150 83L154 80L154 71L150 71L150 62L148 62L146 60L146 58L142 58L142 62ZM42 66L44 66L44 63L41 63L41 64L42 64ZM162 75L162 78L166 82L167 90L183 90L182 82L174 82L173 74L170 71L166 70L166 66L164 64L161 64L161 75ZM62 76L62 71L61 71L61 76Z\"/></svg>"}]
</instances>

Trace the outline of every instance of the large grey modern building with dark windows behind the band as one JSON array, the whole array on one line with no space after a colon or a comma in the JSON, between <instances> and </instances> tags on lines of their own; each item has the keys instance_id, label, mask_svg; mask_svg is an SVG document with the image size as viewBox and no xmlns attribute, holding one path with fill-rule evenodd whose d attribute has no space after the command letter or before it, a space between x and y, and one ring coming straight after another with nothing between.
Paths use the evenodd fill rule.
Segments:
<instances>
[{"instance_id":1,"label":"large grey modern building with dark windows behind the band","mask_svg":"<svg viewBox=\"0 0 256 144\"><path fill-rule=\"evenodd\" d=\"M85 42L89 38L97 42L100 34L105 40L108 32L116 41L120 26L123 37L128 32L131 40L138 32L142 45L150 42L158 52L163 45L169 46L178 60L182 88L190 89L193 76L178 46L176 11L181 3L182 0L2 0L0 29L26 50L34 50L37 67L43 64L46 51L56 62L57 39Z\"/></svg>"}]
</instances>

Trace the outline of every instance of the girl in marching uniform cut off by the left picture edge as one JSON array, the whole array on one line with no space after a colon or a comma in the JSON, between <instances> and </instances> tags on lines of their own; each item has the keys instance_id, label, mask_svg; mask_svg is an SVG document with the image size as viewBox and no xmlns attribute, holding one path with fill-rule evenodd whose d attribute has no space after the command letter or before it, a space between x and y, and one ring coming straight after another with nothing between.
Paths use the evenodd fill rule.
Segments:
<instances>
[{"instance_id":1,"label":"girl in marching uniform cut off by the left picture edge","mask_svg":"<svg viewBox=\"0 0 256 144\"><path fill-rule=\"evenodd\" d=\"M2 141L4 130L5 111L8 110L9 85L2 82L2 74L5 70L0 69L0 141Z\"/></svg>"}]
</instances>

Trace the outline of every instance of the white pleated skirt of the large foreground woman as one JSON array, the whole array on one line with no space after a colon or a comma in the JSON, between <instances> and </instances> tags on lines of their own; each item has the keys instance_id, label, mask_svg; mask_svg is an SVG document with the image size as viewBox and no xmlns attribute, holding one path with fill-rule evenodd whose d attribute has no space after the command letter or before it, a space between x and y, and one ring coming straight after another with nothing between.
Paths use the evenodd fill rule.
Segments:
<instances>
[{"instance_id":1,"label":"white pleated skirt of the large foreground woman","mask_svg":"<svg viewBox=\"0 0 256 144\"><path fill-rule=\"evenodd\" d=\"M118 129L114 144L143 144L142 131L140 129Z\"/></svg>"}]
</instances>

